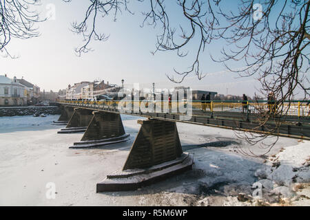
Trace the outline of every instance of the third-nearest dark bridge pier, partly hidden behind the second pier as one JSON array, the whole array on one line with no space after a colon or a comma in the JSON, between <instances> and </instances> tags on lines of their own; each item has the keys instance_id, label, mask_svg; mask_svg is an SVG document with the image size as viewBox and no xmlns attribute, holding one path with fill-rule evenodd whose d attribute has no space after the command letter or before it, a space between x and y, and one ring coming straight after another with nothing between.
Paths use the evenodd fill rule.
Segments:
<instances>
[{"instance_id":1,"label":"third-nearest dark bridge pier, partly hidden behind the second pier","mask_svg":"<svg viewBox=\"0 0 310 220\"><path fill-rule=\"evenodd\" d=\"M85 132L88 124L92 120L92 110L74 108L72 114L65 129L61 129L58 133L79 133Z\"/></svg>"}]
</instances>

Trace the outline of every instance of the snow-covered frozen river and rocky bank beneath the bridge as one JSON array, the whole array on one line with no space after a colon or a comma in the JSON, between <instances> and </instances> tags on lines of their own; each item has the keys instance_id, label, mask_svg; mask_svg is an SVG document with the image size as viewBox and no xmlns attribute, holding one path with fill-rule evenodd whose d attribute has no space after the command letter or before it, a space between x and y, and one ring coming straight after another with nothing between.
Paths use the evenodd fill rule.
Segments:
<instances>
[{"instance_id":1,"label":"snow-covered frozen river and rocky bank beneath the bridge","mask_svg":"<svg viewBox=\"0 0 310 220\"><path fill-rule=\"evenodd\" d=\"M268 154L254 158L234 131L177 123L183 151L194 168L130 192L96 193L96 183L122 168L140 124L122 115L130 141L93 149L69 149L83 133L57 134L47 118L0 118L0 206L309 206L310 142L281 137ZM272 140L268 140L271 142ZM48 199L48 183L56 198Z\"/></svg>"}]
</instances>

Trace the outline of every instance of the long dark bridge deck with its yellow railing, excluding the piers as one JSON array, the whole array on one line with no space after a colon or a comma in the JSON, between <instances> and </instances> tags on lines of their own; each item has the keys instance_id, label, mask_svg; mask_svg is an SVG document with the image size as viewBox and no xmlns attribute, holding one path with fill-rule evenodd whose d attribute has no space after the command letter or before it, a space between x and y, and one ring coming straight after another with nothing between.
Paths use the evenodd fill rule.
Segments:
<instances>
[{"instance_id":1,"label":"long dark bridge deck with its yellow railing, excluding the piers","mask_svg":"<svg viewBox=\"0 0 310 220\"><path fill-rule=\"evenodd\" d=\"M161 102L158 109L161 111L143 111L141 106L143 102L83 102L83 101L63 101L59 104L65 104L72 107L90 109L93 111L106 111L113 113L123 113L127 115L136 115L145 118L154 118L159 120L169 120L174 122L185 122L191 124L200 124L205 126L217 126L224 129L234 129L240 131L251 131L255 133L267 133L285 137L295 137L310 140L310 117L309 107L305 104L291 104L283 107L284 112L281 117L273 117L266 114L265 118L262 112L273 109L273 106L267 104L245 104L216 102L206 104L205 111L201 102ZM181 103L181 104L180 104ZM149 103L143 103L147 107ZM187 110L180 113L179 108L187 106ZM123 109L130 105L129 110ZM122 107L121 107L122 106ZM265 123L262 123L265 122ZM262 125L263 124L263 125Z\"/></svg>"}]
</instances>

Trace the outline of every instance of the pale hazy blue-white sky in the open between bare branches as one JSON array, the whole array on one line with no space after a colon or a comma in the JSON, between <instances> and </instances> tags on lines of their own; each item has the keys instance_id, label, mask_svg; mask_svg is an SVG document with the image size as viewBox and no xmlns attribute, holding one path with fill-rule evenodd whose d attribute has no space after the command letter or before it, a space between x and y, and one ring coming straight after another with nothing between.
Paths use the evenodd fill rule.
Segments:
<instances>
[{"instance_id":1,"label":"pale hazy blue-white sky in the open between bare branches","mask_svg":"<svg viewBox=\"0 0 310 220\"><path fill-rule=\"evenodd\" d=\"M149 26L140 27L143 21L141 10L145 5L136 8L134 4L134 16L123 12L116 22L108 17L98 23L105 34L110 34L110 39L92 42L94 52L76 56L74 48L81 45L82 38L70 32L70 23L83 19L88 2L42 1L42 17L48 13L46 6L52 3L55 6L55 19L39 24L41 36L37 38L12 39L8 50L20 57L0 57L0 74L8 74L10 78L23 76L25 80L39 85L42 91L58 91L69 84L95 79L108 80L118 85L124 79L125 84L143 83L152 87L152 83L156 83L156 87L162 88L175 86L169 83L165 74L172 74L174 67L185 70L191 65L192 58L178 58L175 52L159 52L154 56L150 53L155 48L158 30ZM196 48L195 45L192 47ZM207 46L200 58L204 73L218 74L209 74L200 81L192 75L181 85L218 91L220 94L227 94L228 91L228 94L245 93L253 96L255 87L259 87L254 78L238 78L236 74L223 72L223 65L211 61L209 53L218 54L222 47L220 43ZM236 64L236 67L240 66Z\"/></svg>"}]
</instances>

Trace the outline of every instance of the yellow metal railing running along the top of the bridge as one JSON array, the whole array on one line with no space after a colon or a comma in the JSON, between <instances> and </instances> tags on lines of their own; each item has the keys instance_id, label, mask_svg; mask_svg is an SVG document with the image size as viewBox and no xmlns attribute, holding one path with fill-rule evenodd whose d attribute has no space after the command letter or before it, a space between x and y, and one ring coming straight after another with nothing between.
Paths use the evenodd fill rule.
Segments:
<instances>
[{"instance_id":1,"label":"yellow metal railing running along the top of the bridge","mask_svg":"<svg viewBox=\"0 0 310 220\"><path fill-rule=\"evenodd\" d=\"M160 109L166 112L170 112L171 109L177 109L173 111L174 113L179 113L178 109L180 107L191 106L194 114L200 113L211 113L213 115L229 115L229 114L262 114L269 112L282 113L283 115L292 115L298 117L309 117L310 116L310 104L305 102L293 102L293 103L284 103L281 106L277 104L267 104L266 102L201 102L201 101L191 101L187 102L186 100L182 101L81 101L81 100L66 100L61 101L68 104L74 104L75 106L81 107L90 107L90 108L106 108L106 109L117 109L118 105L122 104L123 107L129 107L132 105L132 110L140 111L143 107L149 107L150 104L153 104L154 109L158 109L158 104Z\"/></svg>"}]
</instances>

